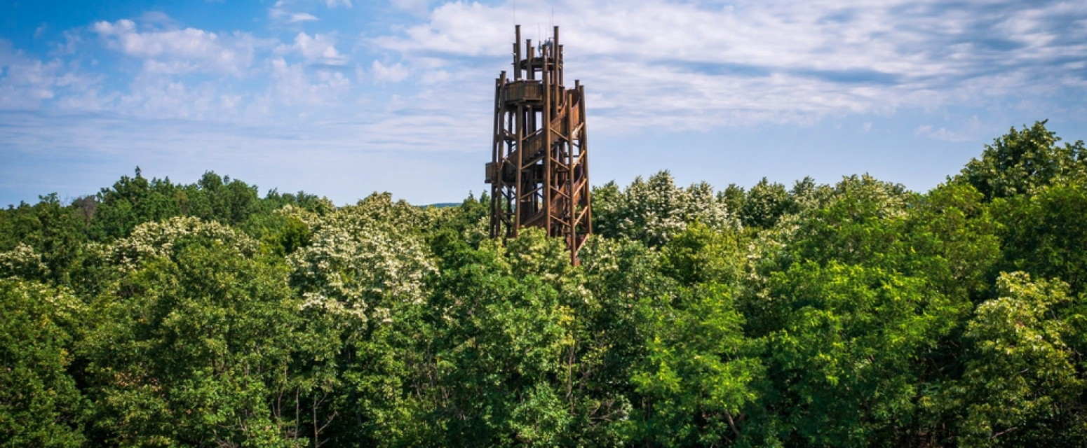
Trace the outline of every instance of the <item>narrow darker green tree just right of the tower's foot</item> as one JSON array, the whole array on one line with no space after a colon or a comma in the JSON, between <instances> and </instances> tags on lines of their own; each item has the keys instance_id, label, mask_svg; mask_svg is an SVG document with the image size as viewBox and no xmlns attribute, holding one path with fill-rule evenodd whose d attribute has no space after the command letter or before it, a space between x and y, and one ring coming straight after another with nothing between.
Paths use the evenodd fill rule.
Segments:
<instances>
[{"instance_id":1,"label":"narrow darker green tree just right of the tower's foot","mask_svg":"<svg viewBox=\"0 0 1087 448\"><path fill-rule=\"evenodd\" d=\"M647 355L661 302L676 282L661 273L660 253L627 239L595 236L583 248L589 292L570 302L575 321L567 362L576 398L567 445L617 446L635 443L632 417L637 399L635 371Z\"/></svg>"}]
</instances>

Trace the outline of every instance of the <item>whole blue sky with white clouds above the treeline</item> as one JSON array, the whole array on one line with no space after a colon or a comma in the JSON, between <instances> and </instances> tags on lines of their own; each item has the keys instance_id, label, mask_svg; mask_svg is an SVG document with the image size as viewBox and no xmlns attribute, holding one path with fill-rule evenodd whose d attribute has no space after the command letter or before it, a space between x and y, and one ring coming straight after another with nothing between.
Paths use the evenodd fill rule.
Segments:
<instances>
[{"instance_id":1,"label":"whole blue sky with white clouds above the treeline","mask_svg":"<svg viewBox=\"0 0 1087 448\"><path fill-rule=\"evenodd\" d=\"M1012 126L1087 139L1083 1L0 0L0 204L137 165L338 204L478 194L514 23L562 27L597 184L924 191Z\"/></svg>"}]
</instances>

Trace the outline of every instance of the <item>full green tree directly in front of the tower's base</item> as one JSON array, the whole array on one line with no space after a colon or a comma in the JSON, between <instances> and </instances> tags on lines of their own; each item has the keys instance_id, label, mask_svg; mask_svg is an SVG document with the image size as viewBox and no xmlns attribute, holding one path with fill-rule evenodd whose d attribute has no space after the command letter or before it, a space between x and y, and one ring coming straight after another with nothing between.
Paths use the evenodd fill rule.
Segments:
<instances>
[{"instance_id":1,"label":"full green tree directly in front of the tower's base","mask_svg":"<svg viewBox=\"0 0 1087 448\"><path fill-rule=\"evenodd\" d=\"M424 349L435 405L416 443L557 445L572 419L561 360L574 317L554 286L571 269L563 244L530 229L508 249L464 249L459 258L473 261L442 272L430 303L440 311Z\"/></svg>"}]
</instances>

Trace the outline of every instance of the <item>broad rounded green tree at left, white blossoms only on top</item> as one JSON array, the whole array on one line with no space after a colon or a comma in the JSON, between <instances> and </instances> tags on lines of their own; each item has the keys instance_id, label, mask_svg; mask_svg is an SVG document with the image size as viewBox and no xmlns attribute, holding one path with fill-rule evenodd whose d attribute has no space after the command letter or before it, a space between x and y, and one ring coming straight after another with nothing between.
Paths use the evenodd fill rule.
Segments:
<instances>
[{"instance_id":1,"label":"broad rounded green tree at left, white blossoms only on top","mask_svg":"<svg viewBox=\"0 0 1087 448\"><path fill-rule=\"evenodd\" d=\"M96 444L304 445L283 400L305 388L288 372L300 337L286 272L214 233L189 232L200 226L188 219L139 227L118 243L115 253L159 244L120 258L124 274L91 304L77 347L97 404Z\"/></svg>"}]
</instances>

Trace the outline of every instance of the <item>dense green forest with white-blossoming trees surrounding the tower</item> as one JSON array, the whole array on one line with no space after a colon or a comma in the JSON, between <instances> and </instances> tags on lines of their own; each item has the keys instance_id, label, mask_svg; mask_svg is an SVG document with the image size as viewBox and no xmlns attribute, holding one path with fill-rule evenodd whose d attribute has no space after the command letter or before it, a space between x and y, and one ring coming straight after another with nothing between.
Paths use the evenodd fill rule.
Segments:
<instances>
[{"instance_id":1,"label":"dense green forest with white-blossoming trees surrounding the tower","mask_svg":"<svg viewBox=\"0 0 1087 448\"><path fill-rule=\"evenodd\" d=\"M0 210L0 446L1085 447L1087 149L870 176L337 207L137 168Z\"/></svg>"}]
</instances>

